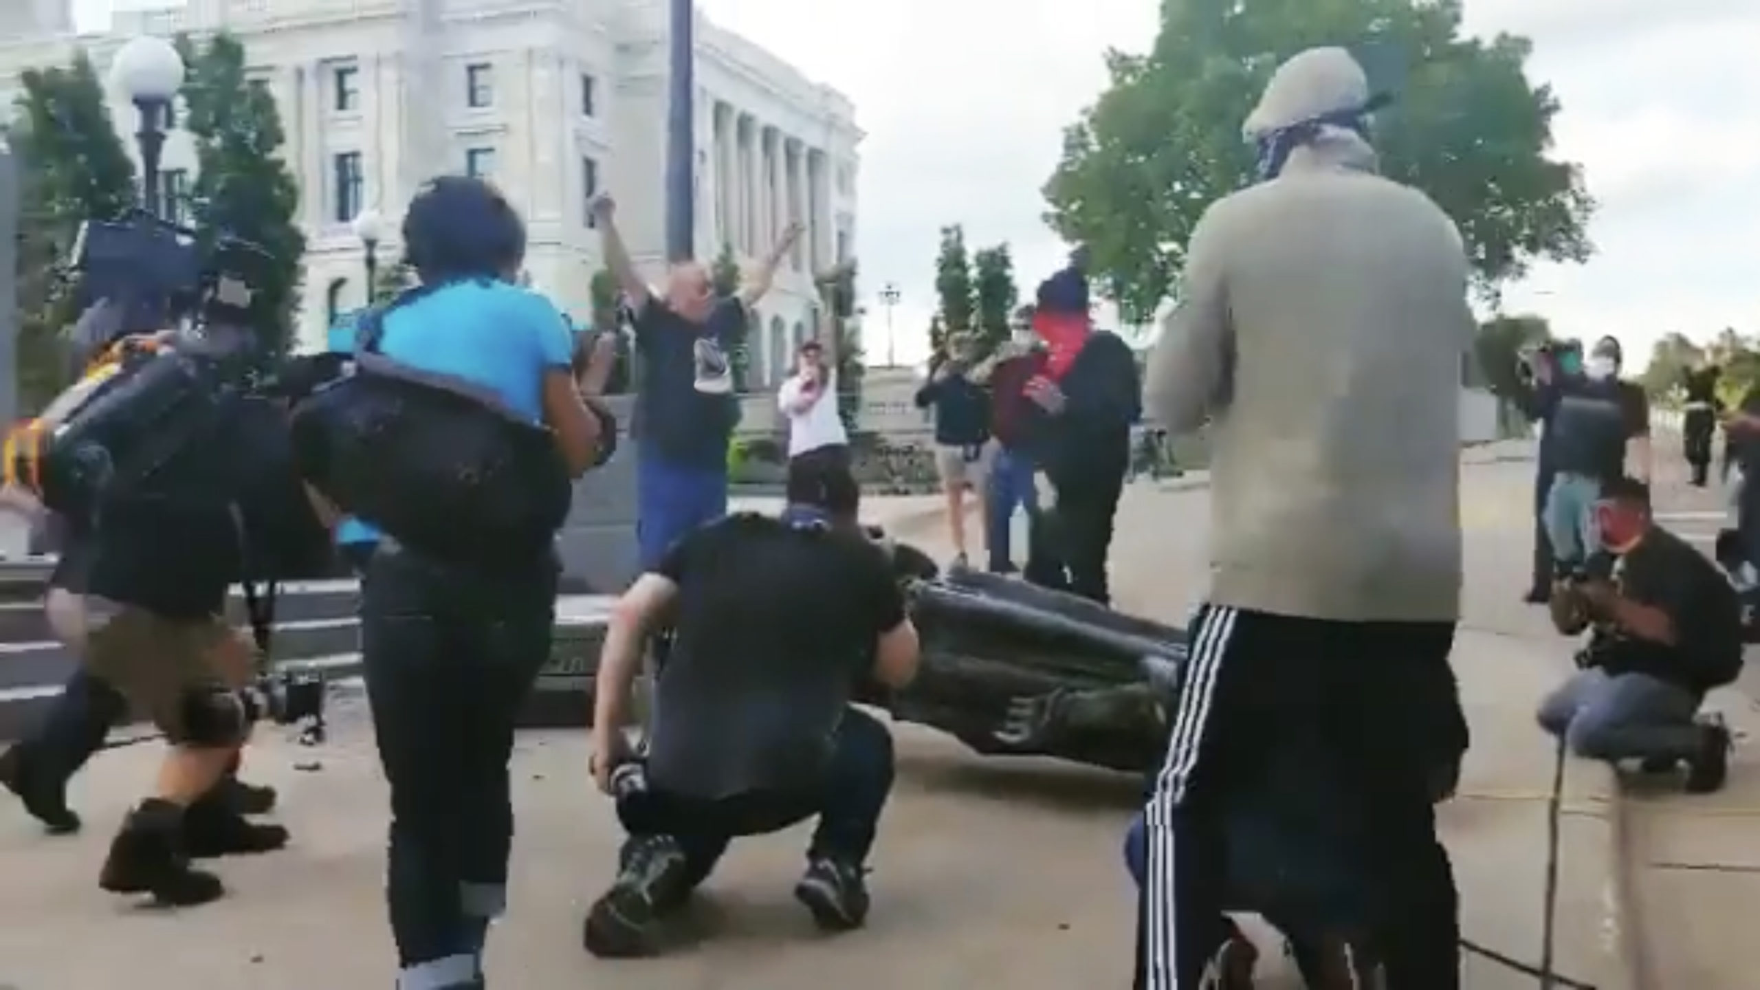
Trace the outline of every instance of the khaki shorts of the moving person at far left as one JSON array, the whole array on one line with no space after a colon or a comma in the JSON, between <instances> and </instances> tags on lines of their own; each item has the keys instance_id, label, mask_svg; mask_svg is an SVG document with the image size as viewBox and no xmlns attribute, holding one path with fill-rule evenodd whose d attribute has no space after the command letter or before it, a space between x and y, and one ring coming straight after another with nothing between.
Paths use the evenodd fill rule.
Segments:
<instances>
[{"instance_id":1,"label":"khaki shorts of the moving person at far left","mask_svg":"<svg viewBox=\"0 0 1760 990\"><path fill-rule=\"evenodd\" d=\"M241 687L250 676L250 648L218 615L165 618L127 604L86 602L86 669L167 738L187 736L192 694Z\"/></svg>"}]
</instances>

